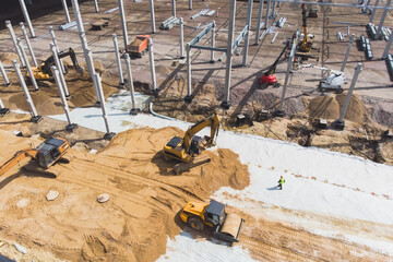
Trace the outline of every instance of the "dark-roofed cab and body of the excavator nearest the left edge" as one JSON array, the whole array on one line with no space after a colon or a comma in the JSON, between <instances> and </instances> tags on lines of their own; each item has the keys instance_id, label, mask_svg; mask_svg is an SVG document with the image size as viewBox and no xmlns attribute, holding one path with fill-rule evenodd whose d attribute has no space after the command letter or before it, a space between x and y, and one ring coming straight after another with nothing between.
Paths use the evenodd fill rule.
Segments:
<instances>
[{"instance_id":1,"label":"dark-roofed cab and body of the excavator nearest the left edge","mask_svg":"<svg viewBox=\"0 0 393 262\"><path fill-rule=\"evenodd\" d=\"M60 148L63 147L64 141L59 139L48 139L45 143L37 146L37 160L39 166L48 168L61 157Z\"/></svg>"}]
</instances>

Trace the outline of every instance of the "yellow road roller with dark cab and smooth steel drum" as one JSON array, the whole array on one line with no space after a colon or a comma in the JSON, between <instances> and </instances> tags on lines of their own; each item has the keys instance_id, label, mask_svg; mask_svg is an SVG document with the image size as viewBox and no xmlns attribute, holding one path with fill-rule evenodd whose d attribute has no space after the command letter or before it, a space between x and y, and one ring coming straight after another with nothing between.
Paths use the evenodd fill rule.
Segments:
<instances>
[{"instance_id":1,"label":"yellow road roller with dark cab and smooth steel drum","mask_svg":"<svg viewBox=\"0 0 393 262\"><path fill-rule=\"evenodd\" d=\"M211 200L206 203L188 202L180 218L192 229L202 231L205 225L213 228L213 235L228 242L238 242L243 218L225 212L225 205Z\"/></svg>"}]
</instances>

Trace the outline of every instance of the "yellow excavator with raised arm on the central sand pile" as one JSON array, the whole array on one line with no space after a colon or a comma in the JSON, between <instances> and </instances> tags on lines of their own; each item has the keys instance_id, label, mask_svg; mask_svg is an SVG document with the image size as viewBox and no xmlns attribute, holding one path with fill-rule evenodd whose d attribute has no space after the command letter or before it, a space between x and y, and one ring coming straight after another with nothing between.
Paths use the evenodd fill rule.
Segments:
<instances>
[{"instance_id":1,"label":"yellow excavator with raised arm on the central sand pile","mask_svg":"<svg viewBox=\"0 0 393 262\"><path fill-rule=\"evenodd\" d=\"M204 136L202 139L201 136L195 135L199 131L206 127L211 128L211 136ZM174 171L177 175L211 160L207 156L195 157L195 155L199 155L201 151L215 144L218 128L219 117L217 114L213 114L189 128L184 138L174 136L164 145L165 159L174 158L182 162L174 167Z\"/></svg>"}]
</instances>

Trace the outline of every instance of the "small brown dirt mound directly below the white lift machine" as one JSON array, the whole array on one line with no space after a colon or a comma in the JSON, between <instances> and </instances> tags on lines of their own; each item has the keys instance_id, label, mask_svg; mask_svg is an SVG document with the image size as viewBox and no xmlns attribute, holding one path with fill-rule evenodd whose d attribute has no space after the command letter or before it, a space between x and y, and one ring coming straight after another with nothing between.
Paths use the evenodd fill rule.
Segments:
<instances>
[{"instance_id":1,"label":"small brown dirt mound directly below the white lift machine","mask_svg":"<svg viewBox=\"0 0 393 262\"><path fill-rule=\"evenodd\" d=\"M310 100L309 115L311 118L337 119L340 105L333 96L319 96Z\"/></svg>"}]
</instances>

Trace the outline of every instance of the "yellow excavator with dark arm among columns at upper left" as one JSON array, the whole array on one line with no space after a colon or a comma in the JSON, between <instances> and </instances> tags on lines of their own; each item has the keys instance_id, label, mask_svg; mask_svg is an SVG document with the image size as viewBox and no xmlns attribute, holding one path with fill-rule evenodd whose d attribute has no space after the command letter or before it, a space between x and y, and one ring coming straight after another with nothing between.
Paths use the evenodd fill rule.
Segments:
<instances>
[{"instance_id":1,"label":"yellow excavator with dark arm among columns at upper left","mask_svg":"<svg viewBox=\"0 0 393 262\"><path fill-rule=\"evenodd\" d=\"M83 68L79 66L75 52L71 47L67 51L61 51L58 53L59 59L61 59L63 57L68 57L68 56L70 56L75 70L82 74ZM50 56L47 60L41 62L41 64L38 68L32 68L34 78L38 81L39 80L50 80L52 76L50 67L53 66L53 63L55 63L55 58L53 58L53 56Z\"/></svg>"}]
</instances>

